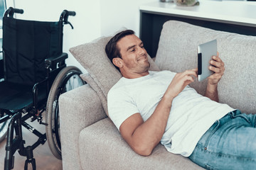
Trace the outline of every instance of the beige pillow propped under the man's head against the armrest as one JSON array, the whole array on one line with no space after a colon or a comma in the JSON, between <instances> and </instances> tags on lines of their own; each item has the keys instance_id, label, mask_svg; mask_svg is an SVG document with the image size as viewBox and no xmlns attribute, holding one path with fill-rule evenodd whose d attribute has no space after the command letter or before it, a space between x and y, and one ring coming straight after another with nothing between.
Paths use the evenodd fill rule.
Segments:
<instances>
[{"instance_id":1,"label":"beige pillow propped under the man's head against the armrest","mask_svg":"<svg viewBox=\"0 0 256 170\"><path fill-rule=\"evenodd\" d=\"M105 53L105 46L110 38L112 37L102 37L92 42L70 48L71 54L80 62L82 67L85 67L90 77L95 81L95 83L91 83L92 81L88 81L87 83L99 93L99 96L101 94L104 95L102 98L105 97L105 99L102 100L102 103L106 113L107 93L122 77ZM149 62L151 64L150 70L159 70L151 57L149 57ZM82 78L85 78L85 76L82 76Z\"/></svg>"}]
</instances>

